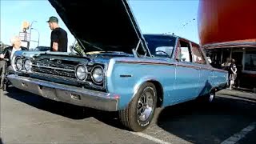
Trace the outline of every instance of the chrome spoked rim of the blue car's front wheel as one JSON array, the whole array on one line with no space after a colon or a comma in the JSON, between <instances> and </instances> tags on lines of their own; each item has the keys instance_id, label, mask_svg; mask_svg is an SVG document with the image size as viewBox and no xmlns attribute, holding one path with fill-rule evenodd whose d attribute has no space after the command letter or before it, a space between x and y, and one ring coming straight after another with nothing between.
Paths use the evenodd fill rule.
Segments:
<instances>
[{"instance_id":1,"label":"chrome spoked rim of the blue car's front wheel","mask_svg":"<svg viewBox=\"0 0 256 144\"><path fill-rule=\"evenodd\" d=\"M141 122L145 122L148 118L150 118L150 115L152 114L152 111L154 110L154 89L152 87L146 87L140 96L138 98L138 120Z\"/></svg>"}]
</instances>

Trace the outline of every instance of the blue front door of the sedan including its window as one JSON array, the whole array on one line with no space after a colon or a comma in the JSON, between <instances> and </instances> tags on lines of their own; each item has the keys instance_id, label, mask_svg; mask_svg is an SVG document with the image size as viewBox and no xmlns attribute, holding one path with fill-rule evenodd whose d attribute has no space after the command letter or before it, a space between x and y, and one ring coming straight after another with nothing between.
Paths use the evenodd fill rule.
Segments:
<instances>
[{"instance_id":1,"label":"blue front door of the sedan including its window","mask_svg":"<svg viewBox=\"0 0 256 144\"><path fill-rule=\"evenodd\" d=\"M186 101L198 94L198 81L200 67L192 62L190 42L180 39L175 53L176 79L174 82L174 95L176 101Z\"/></svg>"}]
</instances>

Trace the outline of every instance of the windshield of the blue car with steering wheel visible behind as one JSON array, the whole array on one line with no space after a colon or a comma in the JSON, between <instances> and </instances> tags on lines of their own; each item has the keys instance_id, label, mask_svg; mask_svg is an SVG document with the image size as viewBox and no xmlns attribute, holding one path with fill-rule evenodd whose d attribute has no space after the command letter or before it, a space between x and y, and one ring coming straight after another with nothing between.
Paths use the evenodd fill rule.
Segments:
<instances>
[{"instance_id":1,"label":"windshield of the blue car with steering wheel visible behind","mask_svg":"<svg viewBox=\"0 0 256 144\"><path fill-rule=\"evenodd\" d=\"M150 53L155 57L170 58L173 53L176 38L170 35L148 35L145 34L147 46Z\"/></svg>"}]
</instances>

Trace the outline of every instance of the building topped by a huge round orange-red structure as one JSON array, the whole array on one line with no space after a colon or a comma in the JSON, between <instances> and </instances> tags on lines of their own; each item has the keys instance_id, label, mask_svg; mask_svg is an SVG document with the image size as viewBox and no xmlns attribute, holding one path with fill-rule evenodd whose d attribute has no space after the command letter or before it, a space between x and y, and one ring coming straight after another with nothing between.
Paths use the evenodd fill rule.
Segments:
<instances>
[{"instance_id":1,"label":"building topped by a huge round orange-red structure","mask_svg":"<svg viewBox=\"0 0 256 144\"><path fill-rule=\"evenodd\" d=\"M234 58L240 86L256 88L256 1L200 0L198 34L212 65ZM237 82L239 83L239 82Z\"/></svg>"}]
</instances>

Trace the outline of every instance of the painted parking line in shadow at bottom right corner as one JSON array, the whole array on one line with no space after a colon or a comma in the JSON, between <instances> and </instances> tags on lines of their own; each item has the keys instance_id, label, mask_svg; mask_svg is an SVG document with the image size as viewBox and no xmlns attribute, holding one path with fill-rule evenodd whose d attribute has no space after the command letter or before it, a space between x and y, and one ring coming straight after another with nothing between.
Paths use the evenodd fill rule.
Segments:
<instances>
[{"instance_id":1,"label":"painted parking line in shadow at bottom right corner","mask_svg":"<svg viewBox=\"0 0 256 144\"><path fill-rule=\"evenodd\" d=\"M244 138L246 136L246 134L248 134L248 133L250 133L250 131L254 130L255 126L256 126L256 122L250 123L249 126L247 126L246 128L242 129L237 134L234 134L230 138L227 138L221 144L234 144L234 143L238 142L240 139Z\"/></svg>"}]
</instances>

